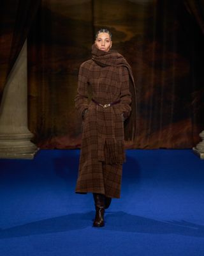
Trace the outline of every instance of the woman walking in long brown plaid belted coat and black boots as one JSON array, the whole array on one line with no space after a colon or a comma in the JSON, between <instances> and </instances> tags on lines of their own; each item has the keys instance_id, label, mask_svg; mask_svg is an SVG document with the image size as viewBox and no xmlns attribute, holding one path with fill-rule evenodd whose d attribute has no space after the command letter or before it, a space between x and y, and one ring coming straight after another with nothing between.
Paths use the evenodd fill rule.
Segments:
<instances>
[{"instance_id":1,"label":"woman walking in long brown plaid belted coat and black boots","mask_svg":"<svg viewBox=\"0 0 204 256\"><path fill-rule=\"evenodd\" d=\"M111 48L110 31L100 29L92 45L92 59L80 66L75 97L75 106L83 120L76 193L93 193L94 227L104 226L105 209L112 198L120 197L125 161L124 120L131 113L130 81L135 92L131 67Z\"/></svg>"}]
</instances>

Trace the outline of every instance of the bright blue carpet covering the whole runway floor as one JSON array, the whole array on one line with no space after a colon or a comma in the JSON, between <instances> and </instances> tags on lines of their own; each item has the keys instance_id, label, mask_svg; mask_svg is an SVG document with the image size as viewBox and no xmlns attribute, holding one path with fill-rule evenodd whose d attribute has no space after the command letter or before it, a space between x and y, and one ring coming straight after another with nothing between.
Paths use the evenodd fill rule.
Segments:
<instances>
[{"instance_id":1,"label":"bright blue carpet covering the whole runway floor","mask_svg":"<svg viewBox=\"0 0 204 256\"><path fill-rule=\"evenodd\" d=\"M191 150L127 150L103 228L92 195L74 193L79 153L0 160L1 256L204 255L204 161Z\"/></svg>"}]
</instances>

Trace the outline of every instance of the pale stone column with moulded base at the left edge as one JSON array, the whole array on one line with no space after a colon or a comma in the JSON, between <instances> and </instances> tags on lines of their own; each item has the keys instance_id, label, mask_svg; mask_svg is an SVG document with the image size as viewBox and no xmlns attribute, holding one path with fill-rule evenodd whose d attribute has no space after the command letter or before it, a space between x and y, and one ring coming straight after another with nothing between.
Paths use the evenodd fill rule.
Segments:
<instances>
[{"instance_id":1,"label":"pale stone column with moulded base at the left edge","mask_svg":"<svg viewBox=\"0 0 204 256\"><path fill-rule=\"evenodd\" d=\"M27 128L27 40L7 79L0 106L0 158L33 159Z\"/></svg>"}]
</instances>

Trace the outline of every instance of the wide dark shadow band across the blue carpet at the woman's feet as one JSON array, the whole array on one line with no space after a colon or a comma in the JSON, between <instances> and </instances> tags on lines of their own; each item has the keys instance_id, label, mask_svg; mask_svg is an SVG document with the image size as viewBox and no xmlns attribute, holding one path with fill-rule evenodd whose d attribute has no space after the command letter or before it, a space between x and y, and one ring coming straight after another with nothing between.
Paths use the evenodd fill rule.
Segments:
<instances>
[{"instance_id":1,"label":"wide dark shadow band across the blue carpet at the woman's feet","mask_svg":"<svg viewBox=\"0 0 204 256\"><path fill-rule=\"evenodd\" d=\"M92 226L94 211L59 216L47 220L34 221L16 227L0 230L0 239L33 236L56 232L80 230ZM204 237L204 226L187 221L159 221L126 212L106 212L103 231L136 232L146 234L178 234L182 236Z\"/></svg>"}]
</instances>

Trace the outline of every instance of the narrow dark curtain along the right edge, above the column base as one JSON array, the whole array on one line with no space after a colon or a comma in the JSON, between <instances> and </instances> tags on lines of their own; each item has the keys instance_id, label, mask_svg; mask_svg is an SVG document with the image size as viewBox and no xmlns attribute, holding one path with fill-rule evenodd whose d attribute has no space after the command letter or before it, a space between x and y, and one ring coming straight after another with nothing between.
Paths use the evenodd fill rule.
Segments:
<instances>
[{"instance_id":1,"label":"narrow dark curtain along the right edge, above the column base","mask_svg":"<svg viewBox=\"0 0 204 256\"><path fill-rule=\"evenodd\" d=\"M184 0L186 19L183 26L187 34L190 60L190 83L192 90L192 134L194 144L203 130L204 81L203 81L203 45L204 45L204 1Z\"/></svg>"}]
</instances>

